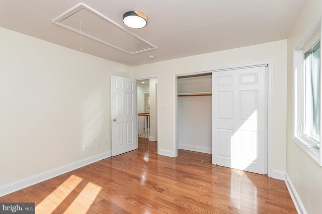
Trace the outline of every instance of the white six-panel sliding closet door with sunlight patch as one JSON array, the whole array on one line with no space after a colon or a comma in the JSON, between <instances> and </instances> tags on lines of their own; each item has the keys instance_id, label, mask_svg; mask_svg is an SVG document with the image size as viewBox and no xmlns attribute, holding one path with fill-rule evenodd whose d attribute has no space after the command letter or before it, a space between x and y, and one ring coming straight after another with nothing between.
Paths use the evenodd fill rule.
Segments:
<instances>
[{"instance_id":1,"label":"white six-panel sliding closet door with sunlight patch","mask_svg":"<svg viewBox=\"0 0 322 214\"><path fill-rule=\"evenodd\" d=\"M265 174L265 66L212 73L212 164Z\"/></svg>"}]
</instances>

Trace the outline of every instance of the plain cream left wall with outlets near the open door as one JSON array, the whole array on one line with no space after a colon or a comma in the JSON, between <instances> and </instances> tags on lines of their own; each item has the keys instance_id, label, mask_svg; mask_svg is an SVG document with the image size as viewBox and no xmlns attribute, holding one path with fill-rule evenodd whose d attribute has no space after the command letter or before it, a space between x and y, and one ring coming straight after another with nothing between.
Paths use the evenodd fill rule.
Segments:
<instances>
[{"instance_id":1,"label":"plain cream left wall with outlets near the open door","mask_svg":"<svg viewBox=\"0 0 322 214\"><path fill-rule=\"evenodd\" d=\"M0 191L109 154L111 75L129 67L4 28L0 50Z\"/></svg>"}]
</instances>

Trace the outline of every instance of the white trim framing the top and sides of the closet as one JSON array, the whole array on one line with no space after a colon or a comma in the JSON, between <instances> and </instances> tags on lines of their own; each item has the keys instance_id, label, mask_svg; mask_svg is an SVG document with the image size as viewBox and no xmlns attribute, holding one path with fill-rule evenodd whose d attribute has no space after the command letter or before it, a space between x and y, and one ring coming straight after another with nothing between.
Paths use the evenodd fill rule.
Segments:
<instances>
[{"instance_id":1,"label":"white trim framing the top and sides of the closet","mask_svg":"<svg viewBox=\"0 0 322 214\"><path fill-rule=\"evenodd\" d=\"M186 71L186 72L178 72L173 74L173 83L174 83L174 91L173 91L173 102L174 102L174 155L175 157L178 156L178 76L187 76L187 75L195 75L195 74L203 74L203 73L211 73L214 71L224 71L224 70L233 70L233 69L240 69L240 68L248 68L260 65L268 65L267 69L267 80L266 80L266 90L267 90L267 105L266 105L266 112L267 112L267 121L266 121L266 132L265 132L265 174L269 177L274 177L278 179L284 179L281 177L280 173L273 172L273 73L272 73L272 61L262 61L256 63L249 63L249 64L240 64L234 66L225 66L220 68L213 68L207 70L195 70L195 71Z\"/></svg>"}]
</instances>

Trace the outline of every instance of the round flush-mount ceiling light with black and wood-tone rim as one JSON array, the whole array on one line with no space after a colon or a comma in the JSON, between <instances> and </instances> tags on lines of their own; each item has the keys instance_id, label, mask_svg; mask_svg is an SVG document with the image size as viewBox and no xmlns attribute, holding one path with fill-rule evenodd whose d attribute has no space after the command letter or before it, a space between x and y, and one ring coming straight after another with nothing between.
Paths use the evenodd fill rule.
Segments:
<instances>
[{"instance_id":1,"label":"round flush-mount ceiling light with black and wood-tone rim","mask_svg":"<svg viewBox=\"0 0 322 214\"><path fill-rule=\"evenodd\" d=\"M123 15L123 23L130 28L144 28L147 25L147 17L139 11L129 11Z\"/></svg>"}]
</instances>

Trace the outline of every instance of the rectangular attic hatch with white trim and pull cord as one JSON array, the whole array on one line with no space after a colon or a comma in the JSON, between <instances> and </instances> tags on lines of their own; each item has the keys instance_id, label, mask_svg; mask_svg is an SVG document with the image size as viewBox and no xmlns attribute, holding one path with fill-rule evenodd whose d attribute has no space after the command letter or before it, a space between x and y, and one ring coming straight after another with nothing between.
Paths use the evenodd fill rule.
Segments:
<instances>
[{"instance_id":1,"label":"rectangular attic hatch with white trim and pull cord","mask_svg":"<svg viewBox=\"0 0 322 214\"><path fill-rule=\"evenodd\" d=\"M128 54L156 49L154 45L84 4L76 6L52 22Z\"/></svg>"}]
</instances>

